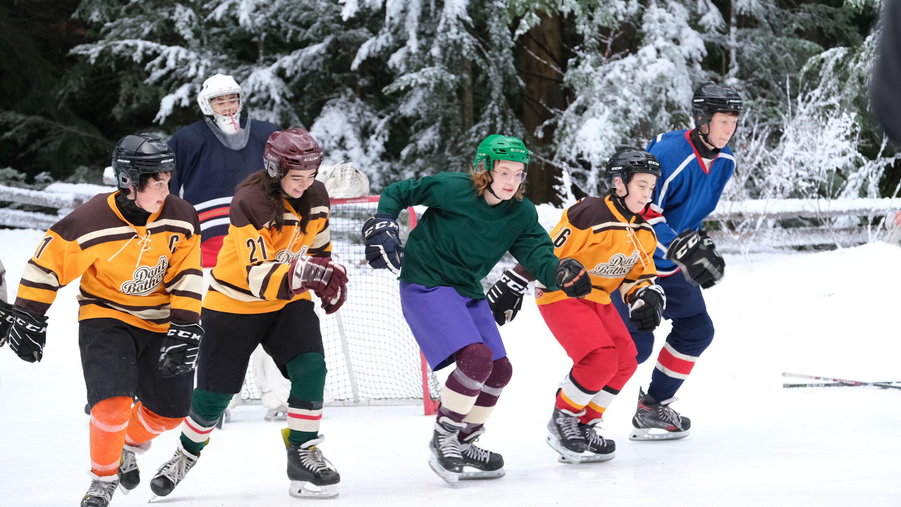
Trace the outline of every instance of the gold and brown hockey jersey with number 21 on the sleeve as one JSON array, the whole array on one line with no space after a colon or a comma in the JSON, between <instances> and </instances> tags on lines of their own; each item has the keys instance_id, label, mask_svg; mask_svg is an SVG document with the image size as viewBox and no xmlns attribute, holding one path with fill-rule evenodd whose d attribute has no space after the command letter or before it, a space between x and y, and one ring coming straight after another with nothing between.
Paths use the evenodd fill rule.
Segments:
<instances>
[{"instance_id":1,"label":"gold and brown hockey jersey with number 21 on the sleeve","mask_svg":"<svg viewBox=\"0 0 901 507\"><path fill-rule=\"evenodd\" d=\"M282 230L269 222L266 195L259 188L242 188L232 198L228 235L219 250L204 308L230 313L277 312L291 301L311 299L291 294L287 271L303 255L331 257L329 195L320 181L310 193L310 220L300 229L301 215L286 200Z\"/></svg>"}]
</instances>

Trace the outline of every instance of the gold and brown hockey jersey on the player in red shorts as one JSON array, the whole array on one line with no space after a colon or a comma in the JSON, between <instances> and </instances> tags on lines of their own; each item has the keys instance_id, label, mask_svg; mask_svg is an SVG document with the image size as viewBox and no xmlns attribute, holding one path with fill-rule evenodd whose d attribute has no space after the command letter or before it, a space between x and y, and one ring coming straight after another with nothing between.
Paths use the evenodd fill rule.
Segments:
<instances>
[{"instance_id":1,"label":"gold and brown hockey jersey on the player in red shorts","mask_svg":"<svg viewBox=\"0 0 901 507\"><path fill-rule=\"evenodd\" d=\"M610 294L622 285L623 300L657 277L654 249L657 234L639 215L626 219L611 197L586 197L563 211L551 231L554 253L582 263L591 277L592 291L586 299L610 303ZM563 291L545 292L535 282L535 303L566 299Z\"/></svg>"}]
</instances>

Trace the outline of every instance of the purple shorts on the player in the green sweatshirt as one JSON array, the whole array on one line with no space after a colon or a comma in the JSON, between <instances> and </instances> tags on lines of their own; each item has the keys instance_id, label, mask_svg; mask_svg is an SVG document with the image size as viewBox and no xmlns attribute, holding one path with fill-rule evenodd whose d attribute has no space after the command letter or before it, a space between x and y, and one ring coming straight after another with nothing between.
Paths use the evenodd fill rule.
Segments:
<instances>
[{"instance_id":1,"label":"purple shorts on the player in the green sweatshirt","mask_svg":"<svg viewBox=\"0 0 901 507\"><path fill-rule=\"evenodd\" d=\"M454 362L452 354L469 344L484 343L504 358L501 333L487 299L471 299L453 287L400 283L400 303L419 348L432 370Z\"/></svg>"}]
</instances>

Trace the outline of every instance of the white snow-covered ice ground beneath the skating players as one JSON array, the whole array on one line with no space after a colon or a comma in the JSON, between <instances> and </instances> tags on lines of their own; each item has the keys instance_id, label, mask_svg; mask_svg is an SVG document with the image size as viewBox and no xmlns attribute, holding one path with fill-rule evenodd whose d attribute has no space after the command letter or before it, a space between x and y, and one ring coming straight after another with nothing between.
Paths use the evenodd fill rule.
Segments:
<instances>
[{"instance_id":1,"label":"white snow-covered ice ground beneath the skating players","mask_svg":"<svg viewBox=\"0 0 901 507\"><path fill-rule=\"evenodd\" d=\"M0 231L15 292L39 231ZM502 328L514 378L479 444L504 455L507 475L451 488L425 464L432 419L419 406L329 408L323 450L341 472L347 505L898 505L901 392L870 387L783 389L783 371L901 380L896 321L901 249L884 243L815 254L727 258L705 292L716 338L674 407L687 439L630 442L634 401L653 359L608 411L616 457L560 465L544 443L557 382L568 370L531 300ZM887 267L887 268L884 268ZM885 271L879 271L885 269ZM43 362L0 350L0 504L77 505L88 485L87 416L78 361L76 285L50 310ZM669 326L658 330L658 347ZM239 407L165 505L300 505L287 495L279 430L260 407ZM114 505L146 504L147 481L177 431L141 456L144 483ZM892 485L895 484L895 485Z\"/></svg>"}]
</instances>

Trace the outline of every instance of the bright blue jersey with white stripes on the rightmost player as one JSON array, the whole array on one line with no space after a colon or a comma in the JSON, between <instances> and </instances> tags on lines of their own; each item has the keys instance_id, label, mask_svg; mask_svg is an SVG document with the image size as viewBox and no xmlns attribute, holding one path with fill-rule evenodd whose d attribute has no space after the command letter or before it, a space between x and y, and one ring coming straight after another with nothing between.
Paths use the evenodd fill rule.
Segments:
<instances>
[{"instance_id":1,"label":"bright blue jersey with white stripes on the rightmost player","mask_svg":"<svg viewBox=\"0 0 901 507\"><path fill-rule=\"evenodd\" d=\"M679 232L700 231L701 225L723 194L735 170L732 149L724 147L710 163L705 163L689 140L691 131L660 134L648 144L648 151L660 161L662 174L654 188L654 199L644 219L657 232L654 264L658 276L668 276L678 267L666 258L669 243Z\"/></svg>"}]
</instances>

